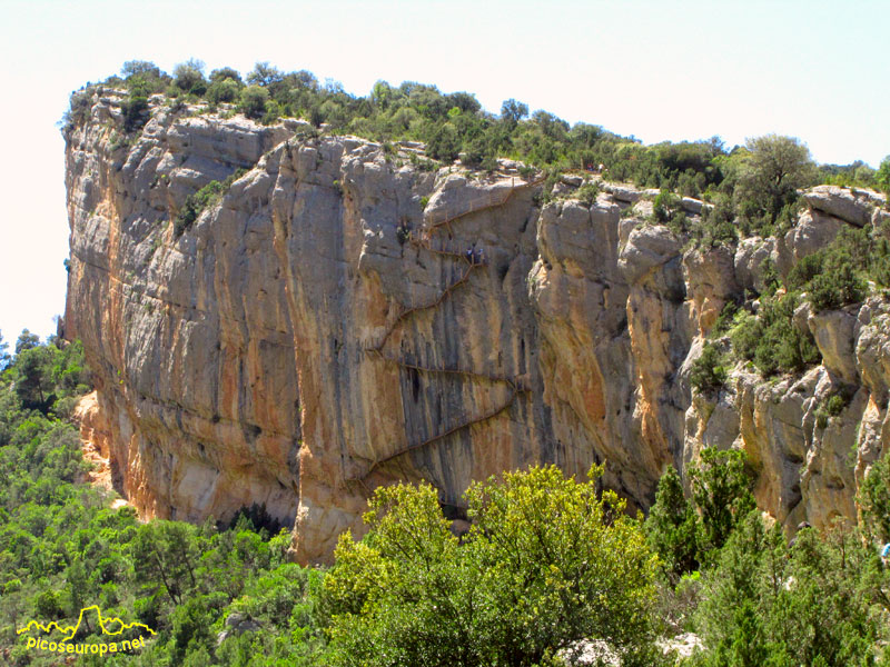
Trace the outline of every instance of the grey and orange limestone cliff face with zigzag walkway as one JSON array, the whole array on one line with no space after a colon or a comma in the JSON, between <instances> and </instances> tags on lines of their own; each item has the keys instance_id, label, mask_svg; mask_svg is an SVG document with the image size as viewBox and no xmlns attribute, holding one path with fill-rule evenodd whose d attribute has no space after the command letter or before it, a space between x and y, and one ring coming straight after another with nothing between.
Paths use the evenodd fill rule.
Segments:
<instances>
[{"instance_id":1,"label":"grey and orange limestone cliff face with zigzag walkway","mask_svg":"<svg viewBox=\"0 0 890 667\"><path fill-rule=\"evenodd\" d=\"M294 526L295 558L324 561L342 531L362 532L379 485L427 479L459 520L474 479L606 461L604 484L645 509L664 467L709 445L749 451L763 509L787 524L854 515L890 440L890 306L807 319L825 366L802 378L764 385L740 367L716 398L688 381L764 260L781 268L831 233L684 251L622 217L652 192L613 186L586 205L564 179L567 198L542 206L512 162L485 179L428 172L417 146L392 155L160 99L127 137L120 101L100 91L66 137L65 329L96 375L83 424L144 517L256 504ZM178 235L186 199L238 169ZM871 206L832 197L812 199L812 220L859 223ZM815 426L840 384L858 392Z\"/></svg>"}]
</instances>

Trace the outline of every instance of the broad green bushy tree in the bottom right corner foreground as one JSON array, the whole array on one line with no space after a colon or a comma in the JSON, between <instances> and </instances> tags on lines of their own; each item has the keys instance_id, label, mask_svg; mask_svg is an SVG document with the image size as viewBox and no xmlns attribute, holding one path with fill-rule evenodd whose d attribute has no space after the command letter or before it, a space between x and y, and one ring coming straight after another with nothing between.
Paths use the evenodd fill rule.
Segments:
<instances>
[{"instance_id":1,"label":"broad green bushy tree in the bottom right corner foreground","mask_svg":"<svg viewBox=\"0 0 890 667\"><path fill-rule=\"evenodd\" d=\"M750 512L706 571L698 629L709 667L874 664L880 587L862 586L870 556L854 531L799 531ZM883 630L886 635L886 628Z\"/></svg>"}]
</instances>

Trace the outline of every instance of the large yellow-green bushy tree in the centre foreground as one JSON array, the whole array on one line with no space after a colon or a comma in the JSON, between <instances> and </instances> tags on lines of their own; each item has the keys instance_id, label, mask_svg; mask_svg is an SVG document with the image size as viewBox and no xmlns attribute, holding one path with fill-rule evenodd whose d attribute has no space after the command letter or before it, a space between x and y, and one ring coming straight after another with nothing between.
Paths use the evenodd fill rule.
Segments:
<instances>
[{"instance_id":1,"label":"large yellow-green bushy tree in the centre foreground","mask_svg":"<svg viewBox=\"0 0 890 667\"><path fill-rule=\"evenodd\" d=\"M471 487L463 545L429 486L377 489L325 579L335 665L540 665L601 639L653 664L656 558L624 501L555 467Z\"/></svg>"}]
</instances>

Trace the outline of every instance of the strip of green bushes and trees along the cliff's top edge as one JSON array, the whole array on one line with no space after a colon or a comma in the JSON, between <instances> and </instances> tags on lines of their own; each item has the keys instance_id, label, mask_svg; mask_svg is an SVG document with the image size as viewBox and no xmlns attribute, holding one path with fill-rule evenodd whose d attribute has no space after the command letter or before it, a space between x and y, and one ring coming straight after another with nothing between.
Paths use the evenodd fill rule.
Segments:
<instances>
[{"instance_id":1,"label":"strip of green bushes and trees along the cliff's top edge","mask_svg":"<svg viewBox=\"0 0 890 667\"><path fill-rule=\"evenodd\" d=\"M777 136L752 138L732 149L719 137L643 146L597 125L570 126L514 99L494 115L468 92L443 93L413 81L378 81L362 97L335 81L320 83L306 70L285 72L259 62L245 77L230 67L206 74L205 64L192 59L178 64L172 76L151 62L128 61L120 76L102 86L128 91L122 108L128 132L148 120L152 94L174 107L202 103L205 112L240 112L264 123L303 118L332 133L423 141L428 157L446 163L459 158L468 167L492 170L497 158L514 158L553 172L595 170L606 180L703 197L718 205L718 216L734 211L742 233L787 222L802 187L823 182L890 189L890 159L877 171L863 162L817 166L799 140ZM88 86L72 94L63 131L86 120L91 90Z\"/></svg>"}]
</instances>

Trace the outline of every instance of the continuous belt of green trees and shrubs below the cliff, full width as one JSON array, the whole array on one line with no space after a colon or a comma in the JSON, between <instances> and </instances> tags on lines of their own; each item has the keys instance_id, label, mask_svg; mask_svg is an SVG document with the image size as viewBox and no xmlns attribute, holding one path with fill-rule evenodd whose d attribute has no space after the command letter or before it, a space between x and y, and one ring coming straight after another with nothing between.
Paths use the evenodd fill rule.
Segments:
<instances>
[{"instance_id":1,"label":"continuous belt of green trees and shrubs below the cliff, full width","mask_svg":"<svg viewBox=\"0 0 890 667\"><path fill-rule=\"evenodd\" d=\"M0 357L8 347L0 338ZM890 659L890 574L876 549L890 539L886 457L861 486L869 539L808 528L789 546L778 524L746 511L741 452L704 449L689 468L691 500L669 469L645 534L613 492L597 491L602 468L586 482L548 467L474 485L473 526L459 539L431 487L379 488L368 535L344 537L326 575L287 563L290 535L257 529L274 529L261 506L200 526L110 509L108 495L78 482L80 438L58 418L88 389L80 346L24 331L16 348L0 371L4 664L43 664L16 633L29 619L75 620L98 604L157 633L127 657L144 667L555 666L581 638L624 666L654 667L656 586L704 643L685 667ZM31 389L20 389L28 377ZM32 409L36 387L43 405Z\"/></svg>"}]
</instances>

